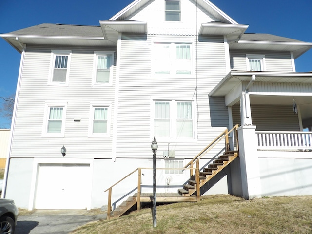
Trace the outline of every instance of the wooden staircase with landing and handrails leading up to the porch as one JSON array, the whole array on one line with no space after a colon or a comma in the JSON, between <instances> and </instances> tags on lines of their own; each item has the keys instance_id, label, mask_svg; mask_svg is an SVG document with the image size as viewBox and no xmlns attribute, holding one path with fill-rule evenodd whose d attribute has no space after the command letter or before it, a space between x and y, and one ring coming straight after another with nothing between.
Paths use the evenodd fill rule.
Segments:
<instances>
[{"instance_id":1,"label":"wooden staircase with landing and handrails leading up to the porch","mask_svg":"<svg viewBox=\"0 0 312 234\"><path fill-rule=\"evenodd\" d=\"M200 188L204 186L208 181L210 181L215 175L222 171L227 165L229 165L236 157L239 156L238 150L238 135L237 135L236 125L230 131L227 129L221 133L212 143L210 143L205 149L203 149L197 156L195 156L184 168L183 170L190 170L190 179L186 184L183 184L183 188L178 189L177 193L159 193L156 194L157 202L196 202L199 201L200 197ZM229 150L229 134L231 132L235 133L236 138L236 149L235 151ZM216 144L221 140L225 140L225 149L226 151L223 155L218 156L214 161L208 164L208 167L203 168L199 171L199 160L207 154ZM196 167L193 167L196 165ZM141 193L141 175L142 169L153 169L153 168L137 168L135 171L125 176L117 183L112 185L110 188L105 190L108 191L108 210L107 210L107 220L110 218L117 218L121 215L124 215L130 209L133 209L137 204L137 210L141 209L141 202L152 202L153 194L152 193ZM168 169L168 168L156 168L156 169ZM170 169L170 168L169 168ZM175 168L177 169L177 168ZM194 174L195 170L195 174ZM116 209L111 211L111 200L112 200L112 188L117 185L119 182L127 178L138 171L138 184L137 184L137 193L133 196L129 196L127 200L123 201Z\"/></svg>"}]
</instances>

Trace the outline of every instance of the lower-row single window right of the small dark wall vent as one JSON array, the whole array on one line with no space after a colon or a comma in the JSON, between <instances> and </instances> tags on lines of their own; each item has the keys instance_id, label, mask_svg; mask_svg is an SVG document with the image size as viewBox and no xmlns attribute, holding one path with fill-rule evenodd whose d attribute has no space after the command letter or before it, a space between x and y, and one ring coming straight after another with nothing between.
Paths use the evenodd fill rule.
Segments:
<instances>
[{"instance_id":1,"label":"lower-row single window right of the small dark wall vent","mask_svg":"<svg viewBox=\"0 0 312 234\"><path fill-rule=\"evenodd\" d=\"M109 137L110 107L93 104L90 110L89 137Z\"/></svg>"}]
</instances>

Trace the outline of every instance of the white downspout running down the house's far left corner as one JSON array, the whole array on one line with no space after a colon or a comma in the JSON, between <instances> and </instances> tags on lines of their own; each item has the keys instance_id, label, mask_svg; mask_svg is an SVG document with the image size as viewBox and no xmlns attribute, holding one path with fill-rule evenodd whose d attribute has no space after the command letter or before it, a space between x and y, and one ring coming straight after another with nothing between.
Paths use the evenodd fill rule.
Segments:
<instances>
[{"instance_id":1,"label":"white downspout running down the house's far left corner","mask_svg":"<svg viewBox=\"0 0 312 234\"><path fill-rule=\"evenodd\" d=\"M11 156L12 142L13 142L13 132L15 128L16 112L17 112L17 106L18 106L19 94L20 94L21 74L22 74L22 70L24 66L25 50L26 50L26 47L20 43L19 38L16 37L15 39L19 43L20 47L22 48L22 51L21 51L21 59L20 59L19 77L18 77L17 89L15 93L14 109L13 109L12 122L11 122L9 152L8 152L6 162L5 162L5 172L4 172L4 178L3 178L3 189L2 189L1 198L5 198L5 195L6 195L6 185L7 185L8 175L9 175L10 156Z\"/></svg>"}]
</instances>

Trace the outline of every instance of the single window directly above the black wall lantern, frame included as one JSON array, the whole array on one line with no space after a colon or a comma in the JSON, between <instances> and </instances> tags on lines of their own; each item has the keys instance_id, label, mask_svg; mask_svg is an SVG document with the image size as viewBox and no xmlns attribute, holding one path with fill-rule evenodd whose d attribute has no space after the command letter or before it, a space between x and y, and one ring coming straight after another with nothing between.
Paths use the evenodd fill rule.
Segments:
<instances>
[{"instance_id":1,"label":"single window directly above the black wall lantern, frame included","mask_svg":"<svg viewBox=\"0 0 312 234\"><path fill-rule=\"evenodd\" d=\"M43 135L46 137L63 137L65 130L66 104L46 106Z\"/></svg>"}]
</instances>

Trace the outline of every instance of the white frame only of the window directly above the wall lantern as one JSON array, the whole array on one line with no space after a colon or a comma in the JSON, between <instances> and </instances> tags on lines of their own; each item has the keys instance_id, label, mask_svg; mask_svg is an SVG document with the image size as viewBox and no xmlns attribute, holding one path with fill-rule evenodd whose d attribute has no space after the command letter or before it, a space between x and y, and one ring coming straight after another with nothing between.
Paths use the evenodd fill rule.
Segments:
<instances>
[{"instance_id":1,"label":"white frame only of the window directly above the wall lantern","mask_svg":"<svg viewBox=\"0 0 312 234\"><path fill-rule=\"evenodd\" d=\"M48 133L48 124L49 124L49 116L50 116L50 108L51 107L62 107L62 127L60 133ZM44 120L43 120L43 128L42 128L42 137L64 137L65 134L65 125L66 125L66 111L67 111L67 103L66 102L47 102L45 104L44 110Z\"/></svg>"}]
</instances>

